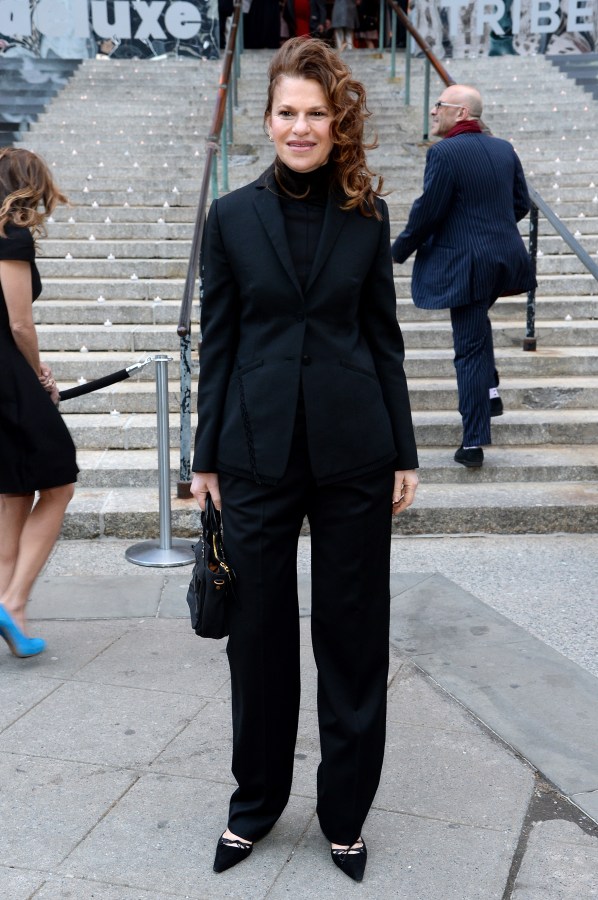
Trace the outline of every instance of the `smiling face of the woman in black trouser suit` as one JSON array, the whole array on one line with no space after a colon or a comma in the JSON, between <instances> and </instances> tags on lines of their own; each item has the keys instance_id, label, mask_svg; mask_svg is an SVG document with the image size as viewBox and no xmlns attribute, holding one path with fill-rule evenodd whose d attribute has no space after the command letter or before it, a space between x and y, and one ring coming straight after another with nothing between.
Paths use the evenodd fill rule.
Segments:
<instances>
[{"instance_id":1,"label":"smiling face of the woman in black trouser suit","mask_svg":"<svg viewBox=\"0 0 598 900\"><path fill-rule=\"evenodd\" d=\"M317 81L279 78L266 124L279 159L289 169L313 172L328 161L332 113Z\"/></svg>"}]
</instances>

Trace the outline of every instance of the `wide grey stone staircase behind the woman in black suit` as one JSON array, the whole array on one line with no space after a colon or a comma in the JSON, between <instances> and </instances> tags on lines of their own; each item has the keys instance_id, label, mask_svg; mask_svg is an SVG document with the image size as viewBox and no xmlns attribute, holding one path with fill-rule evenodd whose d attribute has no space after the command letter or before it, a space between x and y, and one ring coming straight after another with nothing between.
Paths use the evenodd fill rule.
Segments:
<instances>
[{"instance_id":1,"label":"wide grey stone staircase behind the woman in black suit","mask_svg":"<svg viewBox=\"0 0 598 900\"><path fill-rule=\"evenodd\" d=\"M231 188L271 159L262 131L269 57L243 56ZM388 79L388 58L357 51L351 64L376 114L380 147L370 161L391 191L396 234L421 192L423 66L413 61L414 105L406 108L401 80ZM176 322L219 68L205 60L84 62L25 142L54 166L72 202L55 213L42 243L44 294L35 313L43 357L69 387L171 355L173 484ZM540 57L454 60L450 71L481 89L489 126L513 140L530 182L595 254L595 102ZM433 94L441 89L433 78ZM493 420L494 445L480 470L452 459L461 432L448 316L416 310L411 261L395 269L421 462L418 504L397 520L400 533L597 529L598 285L542 218L540 232L538 350L522 350L525 297L499 301L493 322L506 412ZM65 536L157 534L153 369L64 403L82 469ZM174 534L197 532L194 501L173 499L172 524Z\"/></svg>"}]
</instances>

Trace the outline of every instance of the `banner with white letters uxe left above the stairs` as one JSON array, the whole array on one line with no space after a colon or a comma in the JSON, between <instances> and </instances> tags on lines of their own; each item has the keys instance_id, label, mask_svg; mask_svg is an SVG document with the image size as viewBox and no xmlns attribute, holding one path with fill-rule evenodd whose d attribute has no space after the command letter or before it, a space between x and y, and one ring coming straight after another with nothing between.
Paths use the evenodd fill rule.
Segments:
<instances>
[{"instance_id":1,"label":"banner with white letters uxe left above the stairs","mask_svg":"<svg viewBox=\"0 0 598 900\"><path fill-rule=\"evenodd\" d=\"M0 59L217 59L218 41L218 0L0 0Z\"/></svg>"}]
</instances>

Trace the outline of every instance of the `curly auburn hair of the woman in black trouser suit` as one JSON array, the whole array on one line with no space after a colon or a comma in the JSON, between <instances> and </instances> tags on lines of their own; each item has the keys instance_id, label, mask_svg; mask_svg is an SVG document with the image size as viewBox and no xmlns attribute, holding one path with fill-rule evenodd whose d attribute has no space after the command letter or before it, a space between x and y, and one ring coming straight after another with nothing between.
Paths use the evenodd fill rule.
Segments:
<instances>
[{"instance_id":1,"label":"curly auburn hair of the woman in black trouser suit","mask_svg":"<svg viewBox=\"0 0 598 900\"><path fill-rule=\"evenodd\" d=\"M351 70L323 41L317 38L296 37L286 41L275 53L268 69L268 99L264 121L272 115L274 91L280 78L306 78L317 81L332 113L330 137L334 163L333 184L347 198L342 209L359 209L364 216L382 215L376 207L376 197L382 194L383 179L368 168L365 151L378 146L374 138L364 139L366 120L371 116L366 105L365 88L351 77ZM276 180L281 184L281 162L274 163ZM377 178L377 186L373 179Z\"/></svg>"}]
</instances>

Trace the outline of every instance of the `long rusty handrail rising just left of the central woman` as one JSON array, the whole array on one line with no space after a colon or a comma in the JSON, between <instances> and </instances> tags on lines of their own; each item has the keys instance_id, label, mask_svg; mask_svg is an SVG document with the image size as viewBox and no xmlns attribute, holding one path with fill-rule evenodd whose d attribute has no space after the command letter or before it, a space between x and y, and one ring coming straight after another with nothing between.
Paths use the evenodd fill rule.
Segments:
<instances>
[{"instance_id":1,"label":"long rusty handrail rising just left of the central woman","mask_svg":"<svg viewBox=\"0 0 598 900\"><path fill-rule=\"evenodd\" d=\"M236 94L236 79L239 74L237 51L240 47L240 39L238 39L238 35L239 31L242 28L241 13L242 0L234 0L233 17L226 41L226 48L224 51L224 60L222 63L222 70L218 82L218 94L216 96L216 103L214 105L212 124L210 127L210 133L206 139L206 158L201 180L201 189L199 192L199 201L197 204L197 213L195 216L195 227L193 229L193 238L191 241L191 252L189 254L187 277L185 279L183 299L181 301L179 322L177 326L177 334L180 339L181 348L180 467L179 480L177 482L177 496L184 498L190 496L189 486L191 483L191 310L193 307L195 286L199 277L199 258L201 254L203 230L206 221L206 206L208 202L208 194L210 190L210 184L213 184L215 180L214 175L216 171L216 154L218 152L218 145L223 133L225 137L224 141L222 142L223 159L225 159L227 153L226 113L227 103L230 106ZM233 88L232 93L230 91L231 73ZM229 128L229 130L232 132L232 129ZM227 170L224 169L225 174L226 171ZM228 184L226 184L225 189L228 189Z\"/></svg>"}]
</instances>

